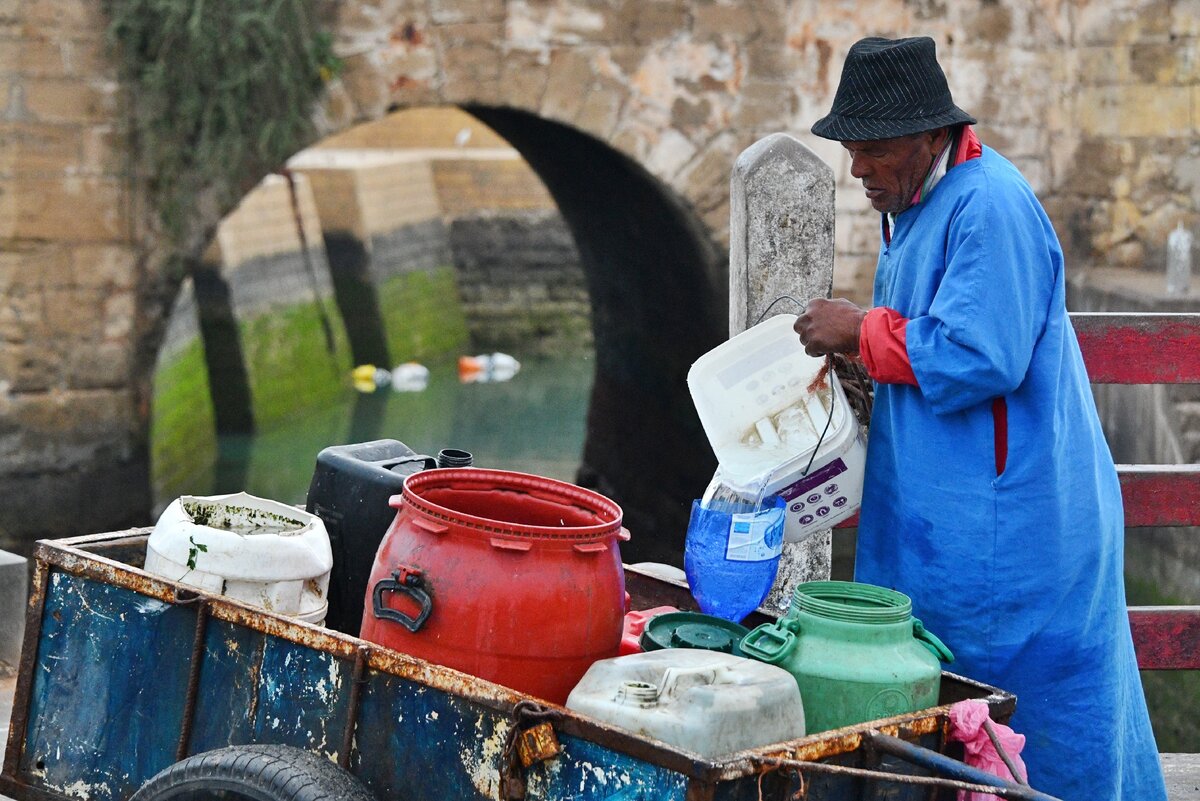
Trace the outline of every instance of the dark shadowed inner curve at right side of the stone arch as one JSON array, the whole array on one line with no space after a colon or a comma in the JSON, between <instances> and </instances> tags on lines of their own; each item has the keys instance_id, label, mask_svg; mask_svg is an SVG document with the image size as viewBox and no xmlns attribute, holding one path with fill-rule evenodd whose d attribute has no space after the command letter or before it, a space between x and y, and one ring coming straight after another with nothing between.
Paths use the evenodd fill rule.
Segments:
<instances>
[{"instance_id":1,"label":"dark shadowed inner curve at right side of the stone arch","mask_svg":"<svg viewBox=\"0 0 1200 801\"><path fill-rule=\"evenodd\" d=\"M726 337L722 255L670 188L610 145L524 112L466 110L533 167L580 251L595 380L578 483L624 508L626 561L680 564L691 499L716 466L686 374Z\"/></svg>"}]
</instances>

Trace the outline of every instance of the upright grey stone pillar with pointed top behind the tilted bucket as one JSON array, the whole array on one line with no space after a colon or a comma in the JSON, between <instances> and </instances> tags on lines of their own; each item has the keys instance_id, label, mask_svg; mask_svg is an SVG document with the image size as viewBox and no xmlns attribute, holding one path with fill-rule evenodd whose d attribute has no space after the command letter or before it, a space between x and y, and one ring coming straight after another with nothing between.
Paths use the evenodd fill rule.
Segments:
<instances>
[{"instance_id":1,"label":"upright grey stone pillar with pointed top behind the tilted bucket","mask_svg":"<svg viewBox=\"0 0 1200 801\"><path fill-rule=\"evenodd\" d=\"M731 337L830 295L833 192L833 169L787 134L773 133L738 156L730 180ZM830 531L786 543L763 606L782 612L798 583L829 578L830 562Z\"/></svg>"}]
</instances>

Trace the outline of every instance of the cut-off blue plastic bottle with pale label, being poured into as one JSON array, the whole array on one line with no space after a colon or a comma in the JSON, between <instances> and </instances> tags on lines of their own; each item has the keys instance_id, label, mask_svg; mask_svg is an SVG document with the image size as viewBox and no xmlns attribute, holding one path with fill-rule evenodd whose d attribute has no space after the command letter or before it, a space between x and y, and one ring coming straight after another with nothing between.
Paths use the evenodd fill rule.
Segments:
<instances>
[{"instance_id":1,"label":"cut-off blue plastic bottle with pale label, being poured into","mask_svg":"<svg viewBox=\"0 0 1200 801\"><path fill-rule=\"evenodd\" d=\"M683 564L704 614L742 622L770 592L784 550L782 498L739 510L691 504Z\"/></svg>"}]
</instances>

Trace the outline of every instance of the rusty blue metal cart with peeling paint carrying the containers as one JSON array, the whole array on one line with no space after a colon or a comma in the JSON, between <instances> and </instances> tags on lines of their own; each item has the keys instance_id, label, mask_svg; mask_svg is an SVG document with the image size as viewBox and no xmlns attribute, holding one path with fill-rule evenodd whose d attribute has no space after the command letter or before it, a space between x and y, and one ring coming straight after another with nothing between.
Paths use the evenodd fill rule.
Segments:
<instances>
[{"instance_id":1,"label":"rusty blue metal cart with peeling paint carrying the containers","mask_svg":"<svg viewBox=\"0 0 1200 801\"><path fill-rule=\"evenodd\" d=\"M149 529L35 553L0 793L19 801L916 801L970 783L948 706L707 760L143 570ZM630 568L634 607L689 608ZM1009 693L944 674L942 703Z\"/></svg>"}]
</instances>

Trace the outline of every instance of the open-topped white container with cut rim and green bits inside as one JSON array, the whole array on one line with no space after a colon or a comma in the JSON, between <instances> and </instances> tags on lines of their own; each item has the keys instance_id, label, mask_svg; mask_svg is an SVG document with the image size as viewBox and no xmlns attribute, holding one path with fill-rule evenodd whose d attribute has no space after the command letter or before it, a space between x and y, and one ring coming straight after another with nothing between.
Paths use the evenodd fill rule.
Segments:
<instances>
[{"instance_id":1,"label":"open-topped white container with cut rim and green bits inside","mask_svg":"<svg viewBox=\"0 0 1200 801\"><path fill-rule=\"evenodd\" d=\"M148 573L316 625L332 566L319 517L246 493L178 498L146 542Z\"/></svg>"}]
</instances>

